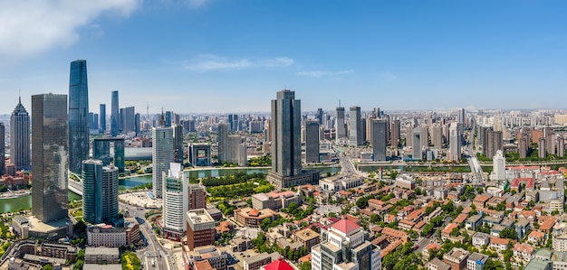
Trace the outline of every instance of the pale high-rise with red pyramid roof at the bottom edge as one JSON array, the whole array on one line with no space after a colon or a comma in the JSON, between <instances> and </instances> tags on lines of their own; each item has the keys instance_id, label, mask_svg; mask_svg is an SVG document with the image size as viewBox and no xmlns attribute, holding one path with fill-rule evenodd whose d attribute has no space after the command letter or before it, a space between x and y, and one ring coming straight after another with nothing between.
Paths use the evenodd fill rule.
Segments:
<instances>
[{"instance_id":1,"label":"pale high-rise with red pyramid roof at the bottom edge","mask_svg":"<svg viewBox=\"0 0 567 270\"><path fill-rule=\"evenodd\" d=\"M380 270L380 247L374 247L351 219L341 219L321 230L321 244L311 249L312 270Z\"/></svg>"}]
</instances>

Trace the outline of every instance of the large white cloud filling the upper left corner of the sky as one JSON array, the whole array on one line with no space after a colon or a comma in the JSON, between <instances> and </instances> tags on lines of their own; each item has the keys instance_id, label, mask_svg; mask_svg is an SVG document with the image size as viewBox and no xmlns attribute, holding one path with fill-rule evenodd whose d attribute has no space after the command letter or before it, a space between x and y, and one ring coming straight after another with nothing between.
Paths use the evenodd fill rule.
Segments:
<instances>
[{"instance_id":1,"label":"large white cloud filling the upper left corner of the sky","mask_svg":"<svg viewBox=\"0 0 567 270\"><path fill-rule=\"evenodd\" d=\"M79 39L78 28L92 27L92 21L103 13L128 16L140 1L0 1L0 57L28 56L70 46Z\"/></svg>"}]
</instances>

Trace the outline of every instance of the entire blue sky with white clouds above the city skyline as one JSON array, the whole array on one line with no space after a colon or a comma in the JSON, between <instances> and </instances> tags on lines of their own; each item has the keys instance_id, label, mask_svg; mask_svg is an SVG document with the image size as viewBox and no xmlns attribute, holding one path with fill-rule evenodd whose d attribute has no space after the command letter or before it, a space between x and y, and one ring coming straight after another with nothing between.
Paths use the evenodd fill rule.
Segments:
<instances>
[{"instance_id":1,"label":"entire blue sky with white clouds above the city skyline","mask_svg":"<svg viewBox=\"0 0 567 270\"><path fill-rule=\"evenodd\" d=\"M0 91L67 93L87 60L91 111L564 108L564 1L5 0Z\"/></svg>"}]
</instances>

